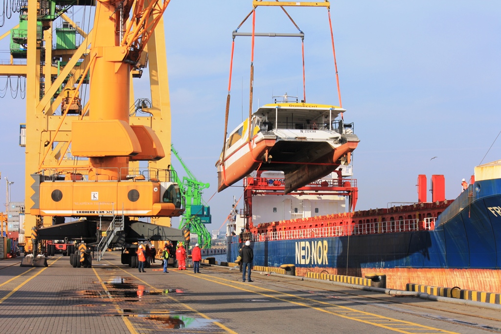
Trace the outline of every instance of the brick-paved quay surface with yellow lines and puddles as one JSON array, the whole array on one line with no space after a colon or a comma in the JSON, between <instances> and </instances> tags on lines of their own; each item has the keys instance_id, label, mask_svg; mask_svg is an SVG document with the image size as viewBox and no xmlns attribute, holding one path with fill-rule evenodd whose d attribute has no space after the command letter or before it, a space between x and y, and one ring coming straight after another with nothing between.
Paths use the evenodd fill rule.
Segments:
<instances>
[{"instance_id":1,"label":"brick-paved quay surface with yellow lines and puddles","mask_svg":"<svg viewBox=\"0 0 501 334\"><path fill-rule=\"evenodd\" d=\"M200 274L189 268L163 273L157 263L140 273L120 264L118 251L107 252L92 268L73 268L61 255L48 263L26 268L19 258L0 261L0 332L501 331L495 310L258 273L255 282L243 283L238 269L202 266Z\"/></svg>"}]
</instances>

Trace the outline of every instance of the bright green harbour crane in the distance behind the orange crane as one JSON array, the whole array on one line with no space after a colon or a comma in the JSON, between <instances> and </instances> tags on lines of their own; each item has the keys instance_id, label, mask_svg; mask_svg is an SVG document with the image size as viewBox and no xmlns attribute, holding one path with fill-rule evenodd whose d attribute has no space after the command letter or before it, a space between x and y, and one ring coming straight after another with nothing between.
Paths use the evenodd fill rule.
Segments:
<instances>
[{"instance_id":1,"label":"bright green harbour crane in the distance behind the orange crane","mask_svg":"<svg viewBox=\"0 0 501 334\"><path fill-rule=\"evenodd\" d=\"M209 184L197 180L174 149L174 145L171 144L170 150L174 153L187 175L183 176L181 181L177 173L174 173L176 175L174 182L179 185L186 198L186 209L184 214L181 215L179 229L188 228L191 233L198 235L198 243L201 245L201 248L210 248L210 233L204 225L211 223L210 207L202 203L202 190L207 189ZM173 169L172 166L170 168Z\"/></svg>"}]
</instances>

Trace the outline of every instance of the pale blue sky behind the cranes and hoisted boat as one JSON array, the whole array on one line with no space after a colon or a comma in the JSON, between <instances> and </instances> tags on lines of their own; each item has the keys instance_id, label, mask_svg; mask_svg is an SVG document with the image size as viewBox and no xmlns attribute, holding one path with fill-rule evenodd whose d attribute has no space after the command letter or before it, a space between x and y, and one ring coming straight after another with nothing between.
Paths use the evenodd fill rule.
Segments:
<instances>
[{"instance_id":1,"label":"pale blue sky behind the cranes and hoisted boat","mask_svg":"<svg viewBox=\"0 0 501 334\"><path fill-rule=\"evenodd\" d=\"M208 200L222 148L231 32L252 2L189 4L173 0L164 16L172 142L199 180L211 184L204 193ZM327 11L288 11L305 33L307 102L337 105ZM455 198L461 178L473 173L501 130L501 3L338 1L331 2L331 15L345 120L355 123L361 140L353 159L357 209L416 201L418 174L445 175L446 197ZM250 30L248 20L239 31ZM297 32L279 8L258 8L256 31ZM8 59L8 45L0 49L0 58ZM248 115L249 65L250 38L237 38L229 131ZM254 65L255 108L271 103L272 95L302 95L299 39L257 39ZM0 78L0 88L5 80ZM146 79L135 80L134 87L136 98L148 97ZM2 103L0 171L15 181L12 200L21 201L24 149L18 141L25 101L8 92ZM501 139L483 162L500 159L500 147ZM5 202L2 189L5 180ZM209 230L221 226L232 196L241 193L241 187L231 187L214 195Z\"/></svg>"}]
</instances>

